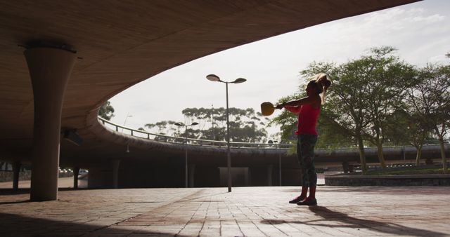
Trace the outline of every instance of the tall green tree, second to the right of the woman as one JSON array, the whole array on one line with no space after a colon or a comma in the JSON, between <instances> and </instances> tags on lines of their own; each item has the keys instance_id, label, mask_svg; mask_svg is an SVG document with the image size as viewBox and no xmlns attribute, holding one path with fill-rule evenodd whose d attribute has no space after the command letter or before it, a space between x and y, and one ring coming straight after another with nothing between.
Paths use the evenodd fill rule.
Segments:
<instances>
[{"instance_id":1,"label":"tall green tree, second to the right of the woman","mask_svg":"<svg viewBox=\"0 0 450 237\"><path fill-rule=\"evenodd\" d=\"M383 144L388 139L387 133L401 124L401 121L391 118L396 111L396 105L401 103L408 82L413 79L413 67L392 55L395 50L389 46L371 48L370 55L362 56L348 64L354 76L366 81L361 105L366 111L364 116L369 123L362 132L364 140L377 147L382 168L386 168Z\"/></svg>"}]
</instances>

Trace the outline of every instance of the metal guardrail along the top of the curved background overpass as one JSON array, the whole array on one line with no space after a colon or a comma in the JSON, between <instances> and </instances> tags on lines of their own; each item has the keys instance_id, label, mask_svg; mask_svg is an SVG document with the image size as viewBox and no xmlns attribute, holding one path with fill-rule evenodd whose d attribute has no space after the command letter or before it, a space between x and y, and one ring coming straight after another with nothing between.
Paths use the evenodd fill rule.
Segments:
<instances>
[{"instance_id":1,"label":"metal guardrail along the top of the curved background overpass","mask_svg":"<svg viewBox=\"0 0 450 237\"><path fill-rule=\"evenodd\" d=\"M156 134L156 133L148 133L143 130L136 130L133 128L127 128L124 126L120 126L118 124L112 123L104 118L98 117L98 121L103 123L103 126L105 128L110 128L112 130L115 130L117 133L123 133L125 135L131 135L133 137L141 137L143 139L147 140L155 140L158 142L169 142L169 143L175 143L175 144L184 144L185 141L187 141L188 145L193 146L210 146L210 147L226 147L225 141L217 141L217 140L200 140L200 139L193 139L193 138L185 138L185 137L174 137L174 136L168 136L168 135L162 135L162 134ZM445 146L449 146L449 141L446 140ZM424 144L425 146L436 146L439 144ZM252 143L252 142L230 142L230 147L234 148L263 148L263 149L290 149L290 147L295 146L295 144L278 144L278 143ZM385 148L406 148L406 147L412 147L412 146L386 146ZM373 147L366 147L366 148L373 148ZM356 150L358 147L329 147L329 148L323 148L323 149L316 149L316 150Z\"/></svg>"}]
</instances>

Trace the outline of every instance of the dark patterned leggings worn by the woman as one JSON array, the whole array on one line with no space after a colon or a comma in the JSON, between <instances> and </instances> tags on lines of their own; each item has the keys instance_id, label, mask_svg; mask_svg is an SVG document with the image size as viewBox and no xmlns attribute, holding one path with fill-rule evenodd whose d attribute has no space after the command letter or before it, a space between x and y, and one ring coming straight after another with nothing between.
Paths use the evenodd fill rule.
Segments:
<instances>
[{"instance_id":1,"label":"dark patterned leggings worn by the woman","mask_svg":"<svg viewBox=\"0 0 450 237\"><path fill-rule=\"evenodd\" d=\"M317 184L317 173L314 166L314 146L316 142L316 135L297 135L297 156L302 169L303 186L316 186Z\"/></svg>"}]
</instances>

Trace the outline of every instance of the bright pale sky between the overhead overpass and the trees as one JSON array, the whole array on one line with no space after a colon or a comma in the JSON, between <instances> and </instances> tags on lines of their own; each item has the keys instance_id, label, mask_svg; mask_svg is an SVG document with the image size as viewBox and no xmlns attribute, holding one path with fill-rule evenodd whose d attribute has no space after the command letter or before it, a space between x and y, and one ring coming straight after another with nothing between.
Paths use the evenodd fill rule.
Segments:
<instances>
[{"instance_id":1,"label":"bright pale sky between the overhead overpass and the trees","mask_svg":"<svg viewBox=\"0 0 450 237\"><path fill-rule=\"evenodd\" d=\"M229 84L229 107L259 111L262 102L295 93L300 71L311 62L341 64L379 46L397 48L401 60L418 67L448 64L450 1L425 0L326 22L193 60L115 95L111 121L134 129L167 120L190 124L181 114L185 108L226 107L225 84L208 81L207 74L223 81L247 79Z\"/></svg>"}]
</instances>

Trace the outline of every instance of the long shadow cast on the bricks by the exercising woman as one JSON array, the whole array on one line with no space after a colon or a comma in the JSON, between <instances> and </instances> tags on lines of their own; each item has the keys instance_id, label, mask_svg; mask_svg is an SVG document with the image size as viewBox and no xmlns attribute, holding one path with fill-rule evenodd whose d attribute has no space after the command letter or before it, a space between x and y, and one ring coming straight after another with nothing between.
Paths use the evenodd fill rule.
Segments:
<instances>
[{"instance_id":1,"label":"long shadow cast on the bricks by the exercising woman","mask_svg":"<svg viewBox=\"0 0 450 237\"><path fill-rule=\"evenodd\" d=\"M435 231L428 231L423 229L416 229L407 226L401 226L399 224L387 223L387 222L377 222L368 219L359 219L356 217L349 217L349 215L330 210L326 207L321 206L309 206L309 210L314 212L314 214L322 217L321 219L309 220L309 221L283 221L280 219L264 219L262 224L283 224L283 223L295 223L295 224L309 224L313 226L326 226L326 227L339 227L341 230L343 228L351 229L370 229L371 231L378 231L380 233L388 233L392 235L400 236L448 236L447 233L440 233ZM330 221L330 224L326 222ZM340 222L340 224L335 224Z\"/></svg>"}]
</instances>

